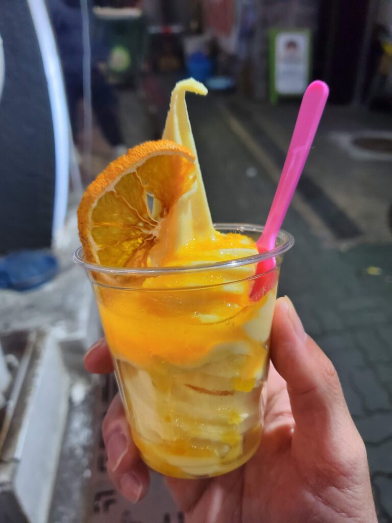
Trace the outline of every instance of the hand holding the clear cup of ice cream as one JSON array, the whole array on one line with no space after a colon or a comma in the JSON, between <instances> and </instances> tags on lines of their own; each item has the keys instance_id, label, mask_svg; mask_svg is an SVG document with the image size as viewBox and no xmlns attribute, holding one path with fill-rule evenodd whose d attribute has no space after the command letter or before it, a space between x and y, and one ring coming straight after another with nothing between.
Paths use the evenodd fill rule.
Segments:
<instances>
[{"instance_id":1,"label":"hand holding the clear cup of ice cream","mask_svg":"<svg viewBox=\"0 0 392 523\"><path fill-rule=\"evenodd\" d=\"M264 435L242 467L203 480L166 477L187 523L376 523L366 450L331 361L305 334L287 298L276 302ZM105 340L87 353L90 372L113 370ZM102 425L108 473L135 503L149 473L117 395Z\"/></svg>"}]
</instances>

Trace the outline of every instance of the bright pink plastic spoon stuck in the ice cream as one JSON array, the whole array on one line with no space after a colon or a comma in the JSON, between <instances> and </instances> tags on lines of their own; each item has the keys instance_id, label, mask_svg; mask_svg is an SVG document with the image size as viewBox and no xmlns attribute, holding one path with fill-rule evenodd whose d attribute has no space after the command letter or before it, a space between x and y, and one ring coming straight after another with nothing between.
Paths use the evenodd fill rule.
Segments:
<instances>
[{"instance_id":1,"label":"bright pink plastic spoon stuck in the ice cream","mask_svg":"<svg viewBox=\"0 0 392 523\"><path fill-rule=\"evenodd\" d=\"M302 174L328 94L328 85L320 80L312 82L305 91L266 226L256 243L259 253L271 251L275 247L276 236L293 198L299 177ZM255 280L255 285L253 285L250 294L252 300L259 300L263 294L273 288L278 277L276 271L272 270L275 266L275 258L259 262L257 274L270 272Z\"/></svg>"}]
</instances>

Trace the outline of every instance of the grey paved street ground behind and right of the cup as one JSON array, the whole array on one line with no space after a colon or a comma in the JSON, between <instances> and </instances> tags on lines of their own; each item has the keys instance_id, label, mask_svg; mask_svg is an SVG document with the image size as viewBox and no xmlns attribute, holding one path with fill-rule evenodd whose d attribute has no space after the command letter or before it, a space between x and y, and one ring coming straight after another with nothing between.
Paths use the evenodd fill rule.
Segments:
<instances>
[{"instance_id":1,"label":"grey paved street ground behind and right of the cup","mask_svg":"<svg viewBox=\"0 0 392 523\"><path fill-rule=\"evenodd\" d=\"M214 220L263 223L297 108L271 109L236 97L190 96L188 105ZM158 126L164 112L154 111ZM385 130L390 123L390 117L345 108L327 112L284 223L296 244L280 282L280 294L291 297L339 372L366 443L383 523L392 521L390 163L350 158L331 137Z\"/></svg>"}]
</instances>

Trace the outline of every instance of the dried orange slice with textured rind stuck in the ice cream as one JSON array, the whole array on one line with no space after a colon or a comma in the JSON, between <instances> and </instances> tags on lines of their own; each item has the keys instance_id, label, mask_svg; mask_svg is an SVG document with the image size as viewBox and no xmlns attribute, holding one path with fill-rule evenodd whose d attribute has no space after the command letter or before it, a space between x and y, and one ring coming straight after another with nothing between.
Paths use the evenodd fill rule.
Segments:
<instances>
[{"instance_id":1,"label":"dried orange slice with textured rind stuck in the ice cream","mask_svg":"<svg viewBox=\"0 0 392 523\"><path fill-rule=\"evenodd\" d=\"M87 187L77 213L86 261L145 266L159 220L194 182L194 160L187 147L157 140L133 147L103 170ZM156 219L147 195L159 202Z\"/></svg>"}]
</instances>

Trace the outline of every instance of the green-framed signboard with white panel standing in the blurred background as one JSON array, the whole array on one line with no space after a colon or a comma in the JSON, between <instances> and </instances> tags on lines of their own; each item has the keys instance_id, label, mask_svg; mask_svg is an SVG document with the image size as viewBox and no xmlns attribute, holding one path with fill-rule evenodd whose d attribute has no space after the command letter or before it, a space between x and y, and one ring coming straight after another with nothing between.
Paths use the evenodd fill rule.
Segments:
<instances>
[{"instance_id":1,"label":"green-framed signboard with white panel standing in the blurred background","mask_svg":"<svg viewBox=\"0 0 392 523\"><path fill-rule=\"evenodd\" d=\"M312 38L309 29L269 30L270 101L302 96L309 84Z\"/></svg>"}]
</instances>

